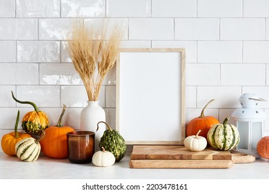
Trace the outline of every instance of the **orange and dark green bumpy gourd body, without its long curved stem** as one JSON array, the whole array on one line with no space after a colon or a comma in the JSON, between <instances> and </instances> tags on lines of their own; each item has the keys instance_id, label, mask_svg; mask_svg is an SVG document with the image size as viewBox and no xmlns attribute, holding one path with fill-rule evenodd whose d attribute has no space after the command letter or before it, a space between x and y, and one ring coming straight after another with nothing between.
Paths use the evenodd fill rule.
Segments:
<instances>
[{"instance_id":1,"label":"orange and dark green bumpy gourd body, without its long curved stem","mask_svg":"<svg viewBox=\"0 0 269 193\"><path fill-rule=\"evenodd\" d=\"M48 116L45 112L31 111L23 116L21 127L29 134L41 135L42 131L49 127Z\"/></svg>"}]
</instances>

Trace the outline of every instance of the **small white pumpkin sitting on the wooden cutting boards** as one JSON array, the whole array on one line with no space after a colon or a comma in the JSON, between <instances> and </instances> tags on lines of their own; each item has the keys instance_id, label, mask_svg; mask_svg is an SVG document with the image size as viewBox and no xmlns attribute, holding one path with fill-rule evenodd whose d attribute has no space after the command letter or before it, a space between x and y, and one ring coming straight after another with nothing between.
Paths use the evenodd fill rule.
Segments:
<instances>
[{"instance_id":1,"label":"small white pumpkin sitting on the wooden cutting boards","mask_svg":"<svg viewBox=\"0 0 269 193\"><path fill-rule=\"evenodd\" d=\"M185 148L193 152L199 152L206 149L206 145L208 145L208 142L206 141L206 138L204 138L203 136L199 136L200 132L201 130L199 130L196 135L186 137L186 139L184 140Z\"/></svg>"}]
</instances>

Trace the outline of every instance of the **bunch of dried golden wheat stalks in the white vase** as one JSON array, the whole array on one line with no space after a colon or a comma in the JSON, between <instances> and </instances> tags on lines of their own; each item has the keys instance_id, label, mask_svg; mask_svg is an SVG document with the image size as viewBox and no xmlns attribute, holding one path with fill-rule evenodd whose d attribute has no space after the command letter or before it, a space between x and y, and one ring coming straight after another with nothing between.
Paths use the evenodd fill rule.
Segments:
<instances>
[{"instance_id":1,"label":"bunch of dried golden wheat stalks in the white vase","mask_svg":"<svg viewBox=\"0 0 269 193\"><path fill-rule=\"evenodd\" d=\"M68 35L68 52L86 88L89 101L97 101L103 79L114 66L121 45L123 28L108 23L87 26L83 21L73 23Z\"/></svg>"}]
</instances>

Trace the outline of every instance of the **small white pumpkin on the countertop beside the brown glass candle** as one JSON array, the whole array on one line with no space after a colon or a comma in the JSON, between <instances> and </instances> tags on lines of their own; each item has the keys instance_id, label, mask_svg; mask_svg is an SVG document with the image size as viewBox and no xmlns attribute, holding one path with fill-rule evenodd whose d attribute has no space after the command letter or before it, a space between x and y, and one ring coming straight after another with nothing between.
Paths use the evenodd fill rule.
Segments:
<instances>
[{"instance_id":1,"label":"small white pumpkin on the countertop beside the brown glass candle","mask_svg":"<svg viewBox=\"0 0 269 193\"><path fill-rule=\"evenodd\" d=\"M115 156L102 147L101 151L95 152L92 156L92 163L97 166L107 167L115 163Z\"/></svg>"}]
</instances>

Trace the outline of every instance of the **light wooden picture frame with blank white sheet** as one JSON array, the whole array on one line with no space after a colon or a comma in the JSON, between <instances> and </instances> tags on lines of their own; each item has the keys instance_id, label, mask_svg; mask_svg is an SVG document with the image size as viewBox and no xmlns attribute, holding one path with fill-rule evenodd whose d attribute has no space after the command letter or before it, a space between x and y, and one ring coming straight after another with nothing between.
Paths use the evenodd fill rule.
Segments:
<instances>
[{"instance_id":1,"label":"light wooden picture frame with blank white sheet","mask_svg":"<svg viewBox=\"0 0 269 193\"><path fill-rule=\"evenodd\" d=\"M185 50L123 48L117 57L116 130L128 145L183 145Z\"/></svg>"}]
</instances>

